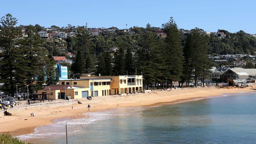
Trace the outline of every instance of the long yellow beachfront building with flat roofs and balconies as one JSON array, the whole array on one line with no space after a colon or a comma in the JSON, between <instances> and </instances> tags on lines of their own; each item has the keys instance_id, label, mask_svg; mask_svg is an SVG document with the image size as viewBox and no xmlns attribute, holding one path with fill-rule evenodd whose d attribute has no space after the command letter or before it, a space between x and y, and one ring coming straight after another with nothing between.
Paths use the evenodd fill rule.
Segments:
<instances>
[{"instance_id":1,"label":"long yellow beachfront building with flat roofs and balconies","mask_svg":"<svg viewBox=\"0 0 256 144\"><path fill-rule=\"evenodd\" d=\"M50 85L38 94L50 93L50 99L86 98L142 92L143 77L136 76L91 76L82 74L80 79L60 80L59 85ZM45 99L48 99L45 97Z\"/></svg>"}]
</instances>

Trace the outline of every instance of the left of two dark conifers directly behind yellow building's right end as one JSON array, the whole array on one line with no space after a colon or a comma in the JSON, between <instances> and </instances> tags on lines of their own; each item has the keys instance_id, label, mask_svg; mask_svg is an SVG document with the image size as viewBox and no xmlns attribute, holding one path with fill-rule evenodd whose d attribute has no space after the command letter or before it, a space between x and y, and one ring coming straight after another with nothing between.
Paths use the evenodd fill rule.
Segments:
<instances>
[{"instance_id":1,"label":"left of two dark conifers directly behind yellow building's right end","mask_svg":"<svg viewBox=\"0 0 256 144\"><path fill-rule=\"evenodd\" d=\"M121 47L114 54L114 74L125 75L124 49Z\"/></svg>"}]
</instances>

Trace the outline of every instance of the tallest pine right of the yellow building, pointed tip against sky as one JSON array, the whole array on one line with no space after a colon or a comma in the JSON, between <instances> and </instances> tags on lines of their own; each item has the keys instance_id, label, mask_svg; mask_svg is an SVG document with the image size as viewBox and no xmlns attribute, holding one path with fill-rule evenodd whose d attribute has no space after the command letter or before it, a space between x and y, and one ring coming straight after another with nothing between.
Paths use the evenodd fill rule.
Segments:
<instances>
[{"instance_id":1,"label":"tallest pine right of the yellow building, pointed tip against sky","mask_svg":"<svg viewBox=\"0 0 256 144\"><path fill-rule=\"evenodd\" d=\"M173 19L170 18L167 23L167 37L165 38L165 73L166 79L171 81L171 88L173 81L179 81L182 76L183 58L182 46L180 40L180 33L178 27Z\"/></svg>"}]
</instances>

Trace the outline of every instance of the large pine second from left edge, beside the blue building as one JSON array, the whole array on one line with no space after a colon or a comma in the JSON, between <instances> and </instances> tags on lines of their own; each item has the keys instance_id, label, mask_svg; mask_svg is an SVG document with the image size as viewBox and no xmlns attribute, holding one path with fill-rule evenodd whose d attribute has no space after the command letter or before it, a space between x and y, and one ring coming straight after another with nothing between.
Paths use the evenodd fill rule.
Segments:
<instances>
[{"instance_id":1,"label":"large pine second from left edge, beside the blue building","mask_svg":"<svg viewBox=\"0 0 256 144\"><path fill-rule=\"evenodd\" d=\"M43 77L45 73L43 66L46 65L47 52L46 49L42 47L45 41L35 34L35 28L32 25L26 27L25 33L28 37L20 40L21 52L23 55L22 70L25 70L25 82L26 85L30 85L30 91L38 90L33 89L33 86L35 83L37 85L44 83L44 80L41 79L40 76Z\"/></svg>"}]
</instances>

